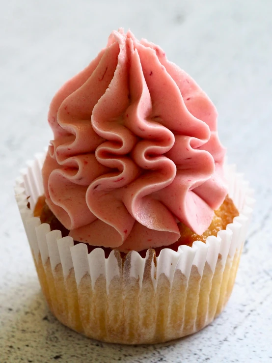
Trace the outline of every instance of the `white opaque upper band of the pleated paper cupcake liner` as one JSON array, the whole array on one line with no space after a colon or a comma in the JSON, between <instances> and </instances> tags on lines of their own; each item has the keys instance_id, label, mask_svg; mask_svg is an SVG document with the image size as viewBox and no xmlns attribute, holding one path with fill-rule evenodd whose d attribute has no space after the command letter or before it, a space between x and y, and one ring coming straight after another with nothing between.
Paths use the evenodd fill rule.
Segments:
<instances>
[{"instance_id":1,"label":"white opaque upper band of the pleated paper cupcake liner","mask_svg":"<svg viewBox=\"0 0 272 363\"><path fill-rule=\"evenodd\" d=\"M96 248L88 254L85 244L74 246L72 237L61 238L60 231L50 231L49 224L41 224L39 218L33 217L32 210L27 208L27 202L30 202L33 209L38 197L43 195L41 168L44 158L44 154L38 154L34 161L27 163L27 168L22 170L21 176L16 180L15 195L36 264L39 263L39 255L44 267L50 260L54 274L56 266L61 263L64 280L67 279L71 269L74 269L77 285L80 285L82 278L87 274L90 276L92 289L94 289L96 281L104 276L107 294L109 294L109 286L114 278L123 281L135 278L141 289L144 277L146 278L146 274L149 274L156 294L161 276L168 279L171 291L174 276L178 271L184 275L188 284L192 271L197 271L202 277L204 269L208 268L214 274L219 257L224 270L227 258L233 258L235 253L240 253L243 247L254 199L252 189L244 181L243 175L236 173L234 165L225 166L224 171L228 195L240 212L233 223L228 224L225 230L220 230L217 237L208 237L206 244L195 241L192 247L180 246L177 252L163 249L156 258L156 265L154 258L150 258L149 251L145 258L136 251L132 251L129 253L130 258L127 258L122 267L120 255L116 251L111 251L108 258L105 258L104 250L101 248ZM28 196L29 199L27 199ZM205 319L208 322L208 316ZM196 330L198 330L196 327L192 328L188 334Z\"/></svg>"}]
</instances>

